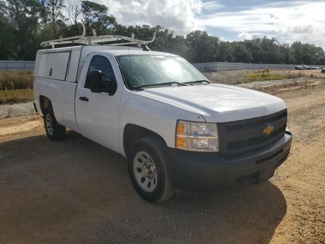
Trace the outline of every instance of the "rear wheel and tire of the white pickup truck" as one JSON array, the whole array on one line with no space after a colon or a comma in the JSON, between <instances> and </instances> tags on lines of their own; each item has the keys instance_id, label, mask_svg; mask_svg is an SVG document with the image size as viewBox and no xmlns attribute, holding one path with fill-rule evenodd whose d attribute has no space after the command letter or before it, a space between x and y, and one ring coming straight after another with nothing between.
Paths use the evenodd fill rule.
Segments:
<instances>
[{"instance_id":1,"label":"rear wheel and tire of the white pickup truck","mask_svg":"<svg viewBox=\"0 0 325 244\"><path fill-rule=\"evenodd\" d=\"M66 127L57 123L51 107L44 110L44 128L47 137L52 141L61 140L66 134Z\"/></svg>"}]
</instances>

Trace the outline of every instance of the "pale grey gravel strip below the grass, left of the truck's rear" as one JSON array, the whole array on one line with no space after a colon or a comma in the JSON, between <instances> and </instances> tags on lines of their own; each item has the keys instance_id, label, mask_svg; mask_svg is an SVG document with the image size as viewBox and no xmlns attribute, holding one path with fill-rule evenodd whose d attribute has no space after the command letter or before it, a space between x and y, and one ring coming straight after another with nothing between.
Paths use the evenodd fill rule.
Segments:
<instances>
[{"instance_id":1,"label":"pale grey gravel strip below the grass, left of the truck's rear","mask_svg":"<svg viewBox=\"0 0 325 244\"><path fill-rule=\"evenodd\" d=\"M12 105L0 105L0 119L33 114L36 114L36 111L32 102Z\"/></svg>"}]
</instances>

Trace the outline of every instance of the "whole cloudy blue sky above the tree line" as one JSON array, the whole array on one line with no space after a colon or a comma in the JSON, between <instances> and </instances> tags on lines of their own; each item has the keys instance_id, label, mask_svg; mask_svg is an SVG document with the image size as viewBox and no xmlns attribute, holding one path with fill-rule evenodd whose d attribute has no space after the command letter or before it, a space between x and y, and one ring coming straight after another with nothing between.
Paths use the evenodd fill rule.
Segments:
<instances>
[{"instance_id":1,"label":"whole cloudy blue sky above the tree line","mask_svg":"<svg viewBox=\"0 0 325 244\"><path fill-rule=\"evenodd\" d=\"M162 25L181 35L202 29L227 41L267 36L325 48L325 1L94 1L107 5L110 14L124 25Z\"/></svg>"}]
</instances>

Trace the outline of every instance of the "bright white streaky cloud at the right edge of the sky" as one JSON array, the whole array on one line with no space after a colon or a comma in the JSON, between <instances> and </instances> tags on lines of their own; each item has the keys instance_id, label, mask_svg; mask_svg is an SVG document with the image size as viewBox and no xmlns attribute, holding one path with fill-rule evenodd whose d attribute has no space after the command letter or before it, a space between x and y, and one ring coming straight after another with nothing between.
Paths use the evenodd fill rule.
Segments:
<instances>
[{"instance_id":1,"label":"bright white streaky cloud at the right edge of the sky","mask_svg":"<svg viewBox=\"0 0 325 244\"><path fill-rule=\"evenodd\" d=\"M325 47L323 9L325 2L321 1L286 1L249 10L208 14L201 18L203 26L238 33L239 39L249 39L253 33L265 33L269 37L285 37L291 42L309 42Z\"/></svg>"}]
</instances>

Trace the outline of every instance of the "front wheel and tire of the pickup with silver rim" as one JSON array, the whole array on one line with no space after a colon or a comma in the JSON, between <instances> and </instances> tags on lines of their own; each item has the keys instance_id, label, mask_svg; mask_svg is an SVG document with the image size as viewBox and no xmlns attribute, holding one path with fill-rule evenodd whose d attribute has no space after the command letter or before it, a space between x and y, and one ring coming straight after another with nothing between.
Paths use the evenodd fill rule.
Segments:
<instances>
[{"instance_id":1,"label":"front wheel and tire of the pickup with silver rim","mask_svg":"<svg viewBox=\"0 0 325 244\"><path fill-rule=\"evenodd\" d=\"M133 187L148 202L163 202L175 194L166 148L160 138L144 137L132 145L128 155L128 172Z\"/></svg>"}]
</instances>

